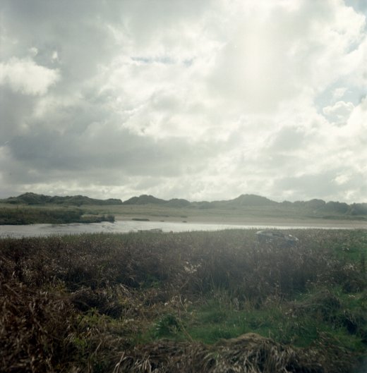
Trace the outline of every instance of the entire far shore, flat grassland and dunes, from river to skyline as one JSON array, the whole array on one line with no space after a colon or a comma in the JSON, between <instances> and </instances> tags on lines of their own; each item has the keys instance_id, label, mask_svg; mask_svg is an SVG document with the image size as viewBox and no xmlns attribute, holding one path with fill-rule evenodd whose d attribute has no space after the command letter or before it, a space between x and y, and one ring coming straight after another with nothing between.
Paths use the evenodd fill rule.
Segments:
<instances>
[{"instance_id":1,"label":"entire far shore, flat grassland and dunes, from river to skyline","mask_svg":"<svg viewBox=\"0 0 367 373\"><path fill-rule=\"evenodd\" d=\"M106 217L107 215L107 217ZM275 202L258 195L233 200L189 202L140 195L121 200L86 196L37 195L32 192L0 200L0 224L70 223L126 219L213 222L223 224L353 224L366 227L367 204L323 200ZM278 222L278 224L277 224Z\"/></svg>"}]
</instances>

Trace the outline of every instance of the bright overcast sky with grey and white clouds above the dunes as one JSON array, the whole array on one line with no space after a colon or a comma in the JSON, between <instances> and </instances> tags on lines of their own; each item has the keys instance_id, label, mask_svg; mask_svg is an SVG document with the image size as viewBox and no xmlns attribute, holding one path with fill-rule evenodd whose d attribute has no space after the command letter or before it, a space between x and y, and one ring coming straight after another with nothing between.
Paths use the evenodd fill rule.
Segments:
<instances>
[{"instance_id":1,"label":"bright overcast sky with grey and white clouds above the dunes","mask_svg":"<svg viewBox=\"0 0 367 373\"><path fill-rule=\"evenodd\" d=\"M367 202L366 0L0 0L0 198Z\"/></svg>"}]
</instances>

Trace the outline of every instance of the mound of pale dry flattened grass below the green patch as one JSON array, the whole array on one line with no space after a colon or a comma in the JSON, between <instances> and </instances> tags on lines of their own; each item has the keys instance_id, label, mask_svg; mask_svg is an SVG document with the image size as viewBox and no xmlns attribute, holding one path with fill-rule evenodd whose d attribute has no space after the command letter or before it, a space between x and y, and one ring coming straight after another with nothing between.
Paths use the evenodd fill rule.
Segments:
<instances>
[{"instance_id":1,"label":"mound of pale dry flattened grass below the green patch","mask_svg":"<svg viewBox=\"0 0 367 373\"><path fill-rule=\"evenodd\" d=\"M114 373L321 373L313 350L282 346L248 333L214 346L159 341L122 353Z\"/></svg>"}]
</instances>

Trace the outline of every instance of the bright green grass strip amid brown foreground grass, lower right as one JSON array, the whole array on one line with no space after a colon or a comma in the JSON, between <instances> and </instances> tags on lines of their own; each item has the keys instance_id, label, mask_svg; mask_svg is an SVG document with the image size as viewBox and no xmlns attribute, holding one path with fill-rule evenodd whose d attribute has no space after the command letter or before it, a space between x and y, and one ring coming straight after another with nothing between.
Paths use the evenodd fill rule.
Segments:
<instances>
[{"instance_id":1,"label":"bright green grass strip amid brown foreground grass, lower right","mask_svg":"<svg viewBox=\"0 0 367 373\"><path fill-rule=\"evenodd\" d=\"M153 323L145 341L163 337L181 341L189 335L195 341L213 344L221 338L236 338L253 332L279 343L306 348L318 341L320 334L327 334L340 341L341 346L363 353L366 345L361 340L367 336L366 299L336 293L339 296L336 299L342 302L337 310L315 304L318 297L313 293L285 304L267 304L260 309L250 305L236 310L228 301L209 299L200 307L191 306L181 316L169 313L160 317ZM307 304L310 304L308 308ZM355 328L350 329L351 323ZM160 327L158 334L152 332L157 327Z\"/></svg>"}]
</instances>

